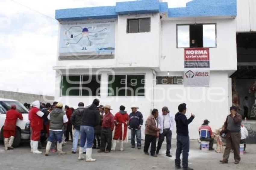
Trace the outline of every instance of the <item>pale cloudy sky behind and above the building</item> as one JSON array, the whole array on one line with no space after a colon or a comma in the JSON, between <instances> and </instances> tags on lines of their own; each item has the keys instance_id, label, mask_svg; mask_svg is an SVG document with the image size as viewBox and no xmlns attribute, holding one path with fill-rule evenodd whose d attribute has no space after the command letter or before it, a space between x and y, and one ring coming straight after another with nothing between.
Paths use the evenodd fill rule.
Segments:
<instances>
[{"instance_id":1,"label":"pale cloudy sky behind and above the building","mask_svg":"<svg viewBox=\"0 0 256 170\"><path fill-rule=\"evenodd\" d=\"M0 90L54 96L55 9L108 6L120 1L129 0L1 0ZM163 2L171 8L186 6L189 1Z\"/></svg>"}]
</instances>

